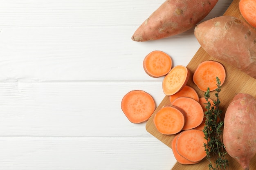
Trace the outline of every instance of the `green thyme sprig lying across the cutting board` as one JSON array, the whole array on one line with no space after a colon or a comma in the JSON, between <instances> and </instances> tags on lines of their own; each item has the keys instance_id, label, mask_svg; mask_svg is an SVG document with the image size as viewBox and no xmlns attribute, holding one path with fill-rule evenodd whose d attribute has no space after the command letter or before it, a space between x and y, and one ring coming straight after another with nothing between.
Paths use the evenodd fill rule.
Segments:
<instances>
[{"instance_id":1,"label":"green thyme sprig lying across the cutting board","mask_svg":"<svg viewBox=\"0 0 256 170\"><path fill-rule=\"evenodd\" d=\"M207 139L207 144L204 143L204 150L207 154L207 159L209 161L209 170L226 170L228 168L228 160L225 158L227 152L225 151L225 146L222 140L222 128L224 122L221 121L222 110L220 110L220 99L219 93L221 91L221 82L218 77L216 77L217 88L216 88L216 101L213 101L213 106L211 106L210 91L204 93L204 98L206 99L206 109L204 113L206 117L204 126L204 138ZM214 159L215 166L213 166L212 159ZM229 168L228 168L229 169Z\"/></svg>"}]
</instances>

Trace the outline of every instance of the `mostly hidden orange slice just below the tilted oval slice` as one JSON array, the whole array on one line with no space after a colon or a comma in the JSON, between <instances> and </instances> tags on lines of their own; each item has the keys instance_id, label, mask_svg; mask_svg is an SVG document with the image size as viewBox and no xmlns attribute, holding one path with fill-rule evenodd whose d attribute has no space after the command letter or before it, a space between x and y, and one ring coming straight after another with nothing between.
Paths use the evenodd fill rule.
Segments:
<instances>
[{"instance_id":1,"label":"mostly hidden orange slice just below the tilted oval slice","mask_svg":"<svg viewBox=\"0 0 256 170\"><path fill-rule=\"evenodd\" d=\"M169 96L170 102L172 103L173 100L177 99L178 97L190 97L196 101L199 100L198 93L195 91L195 89L188 85L184 86L180 92Z\"/></svg>"}]
</instances>

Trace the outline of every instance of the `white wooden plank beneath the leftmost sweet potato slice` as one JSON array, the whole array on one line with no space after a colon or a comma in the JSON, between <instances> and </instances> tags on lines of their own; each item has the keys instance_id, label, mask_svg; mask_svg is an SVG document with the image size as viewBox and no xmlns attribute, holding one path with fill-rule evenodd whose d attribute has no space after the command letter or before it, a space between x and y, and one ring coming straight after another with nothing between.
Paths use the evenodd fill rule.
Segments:
<instances>
[{"instance_id":1,"label":"white wooden plank beneath the leftmost sweet potato slice","mask_svg":"<svg viewBox=\"0 0 256 170\"><path fill-rule=\"evenodd\" d=\"M149 136L146 122L128 121L121 99L141 89L158 105L161 86L150 81L0 83L0 136Z\"/></svg>"}]
</instances>

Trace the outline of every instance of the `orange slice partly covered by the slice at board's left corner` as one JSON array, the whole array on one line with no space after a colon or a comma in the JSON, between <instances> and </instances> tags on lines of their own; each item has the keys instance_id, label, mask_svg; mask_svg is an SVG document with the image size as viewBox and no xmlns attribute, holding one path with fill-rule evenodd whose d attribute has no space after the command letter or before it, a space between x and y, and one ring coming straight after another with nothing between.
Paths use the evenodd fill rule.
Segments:
<instances>
[{"instance_id":1,"label":"orange slice partly covered by the slice at board's left corner","mask_svg":"<svg viewBox=\"0 0 256 170\"><path fill-rule=\"evenodd\" d=\"M202 106L195 99L189 97L179 97L175 99L172 105L184 110L185 125L182 130L189 130L199 126L204 119Z\"/></svg>"}]
</instances>

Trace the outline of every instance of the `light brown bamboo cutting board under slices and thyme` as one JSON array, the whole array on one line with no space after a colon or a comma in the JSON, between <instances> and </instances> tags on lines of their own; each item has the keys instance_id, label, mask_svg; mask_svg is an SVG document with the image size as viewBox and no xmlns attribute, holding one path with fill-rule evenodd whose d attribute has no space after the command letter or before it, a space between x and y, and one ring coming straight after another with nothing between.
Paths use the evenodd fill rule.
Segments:
<instances>
[{"instance_id":1,"label":"light brown bamboo cutting board under slices and thyme","mask_svg":"<svg viewBox=\"0 0 256 170\"><path fill-rule=\"evenodd\" d=\"M240 18L241 20L244 20L242 15L240 14L239 7L238 7L239 0L234 0L227 11L224 13L224 15L232 15L237 18ZM245 21L245 20L244 20ZM234 35L235 36L235 35ZM256 97L256 79L250 77L249 75L239 71L238 69L234 68L233 66L229 65L228 63L221 62L219 60L216 60L215 58L208 55L202 47L195 53L192 60L189 62L189 64L186 66L191 74L190 79L187 85L193 87L197 92L199 97L204 97L204 92L200 91L196 85L192 81L192 75L197 68L197 66L205 60L215 60L223 64L223 66L226 69L226 80L222 86L222 90L220 92L220 102L221 102L221 110L223 113L225 113L225 110L227 109L228 104L233 99L234 95L236 93L248 93L254 97ZM216 99L214 96L215 91L211 92L211 98ZM154 137L162 141L164 144L169 146L171 148L171 141L175 135L162 135L157 131L155 128L155 125L153 123L153 117L157 111L164 107L170 105L168 96L165 96L162 102L159 104L159 106L156 108L153 115L148 119L146 123L146 130L152 134ZM224 116L222 116L224 117ZM243 168L229 155L227 155L227 159L229 160L229 170L243 170ZM256 155L251 160L250 163L250 169L256 170ZM172 170L209 170L208 168L208 161L207 159L203 159L200 163L195 165L182 165L180 163L176 163Z\"/></svg>"}]
</instances>

